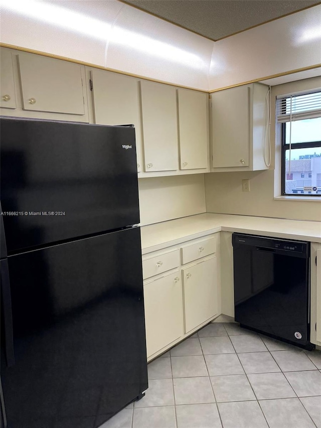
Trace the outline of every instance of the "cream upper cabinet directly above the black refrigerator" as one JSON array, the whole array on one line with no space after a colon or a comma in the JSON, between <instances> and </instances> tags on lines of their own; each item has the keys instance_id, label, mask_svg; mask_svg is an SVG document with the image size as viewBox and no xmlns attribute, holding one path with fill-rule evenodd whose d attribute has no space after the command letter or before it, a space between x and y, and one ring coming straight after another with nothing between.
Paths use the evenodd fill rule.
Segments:
<instances>
[{"instance_id":1,"label":"cream upper cabinet directly above the black refrigerator","mask_svg":"<svg viewBox=\"0 0 321 428\"><path fill-rule=\"evenodd\" d=\"M1 59L1 72L7 87L14 87L11 99L17 103L15 110L2 103L1 114L89 121L83 65L8 48L1 48Z\"/></svg>"}]
</instances>

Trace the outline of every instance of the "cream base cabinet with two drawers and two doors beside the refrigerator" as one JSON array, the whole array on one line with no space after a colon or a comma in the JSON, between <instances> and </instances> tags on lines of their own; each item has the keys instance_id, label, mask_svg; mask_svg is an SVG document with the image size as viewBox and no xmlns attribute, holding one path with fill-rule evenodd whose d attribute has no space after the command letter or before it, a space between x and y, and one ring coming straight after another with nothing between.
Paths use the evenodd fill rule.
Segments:
<instances>
[{"instance_id":1,"label":"cream base cabinet with two drawers and two doors beside the refrigerator","mask_svg":"<svg viewBox=\"0 0 321 428\"><path fill-rule=\"evenodd\" d=\"M219 234L144 254L147 359L220 315Z\"/></svg>"}]
</instances>

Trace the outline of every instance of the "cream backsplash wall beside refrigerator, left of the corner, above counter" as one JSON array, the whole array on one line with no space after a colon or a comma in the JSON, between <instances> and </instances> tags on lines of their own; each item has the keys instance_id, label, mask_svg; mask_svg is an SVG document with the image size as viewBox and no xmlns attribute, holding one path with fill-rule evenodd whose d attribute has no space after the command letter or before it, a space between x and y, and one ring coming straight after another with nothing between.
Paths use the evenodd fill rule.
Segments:
<instances>
[{"instance_id":1,"label":"cream backsplash wall beside refrigerator, left of the corner, above counter","mask_svg":"<svg viewBox=\"0 0 321 428\"><path fill-rule=\"evenodd\" d=\"M152 224L206 211L204 174L141 178L140 224Z\"/></svg>"}]
</instances>

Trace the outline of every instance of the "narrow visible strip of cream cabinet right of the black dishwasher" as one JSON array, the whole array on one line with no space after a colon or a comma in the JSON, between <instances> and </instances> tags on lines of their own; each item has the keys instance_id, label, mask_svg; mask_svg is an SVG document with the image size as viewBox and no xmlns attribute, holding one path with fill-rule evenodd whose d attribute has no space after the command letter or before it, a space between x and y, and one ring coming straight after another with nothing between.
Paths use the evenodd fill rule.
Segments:
<instances>
[{"instance_id":1,"label":"narrow visible strip of cream cabinet right of the black dishwasher","mask_svg":"<svg viewBox=\"0 0 321 428\"><path fill-rule=\"evenodd\" d=\"M311 243L311 321L310 341L321 346L321 244Z\"/></svg>"}]
</instances>

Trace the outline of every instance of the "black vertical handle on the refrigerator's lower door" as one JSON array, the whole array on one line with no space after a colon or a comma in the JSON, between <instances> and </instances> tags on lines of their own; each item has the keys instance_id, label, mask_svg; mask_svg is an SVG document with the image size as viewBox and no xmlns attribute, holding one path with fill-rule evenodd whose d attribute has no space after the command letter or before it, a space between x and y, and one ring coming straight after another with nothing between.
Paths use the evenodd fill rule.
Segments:
<instances>
[{"instance_id":1,"label":"black vertical handle on the refrigerator's lower door","mask_svg":"<svg viewBox=\"0 0 321 428\"><path fill-rule=\"evenodd\" d=\"M12 367L15 365L15 352L14 352L14 329L12 318L12 304L11 304L11 291L10 291L10 278L8 260L4 259L0 262L1 268L1 300L2 311L4 320L5 331L5 346L6 346L6 359L7 366Z\"/></svg>"}]
</instances>

